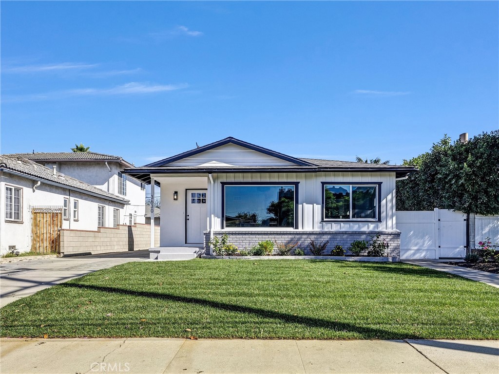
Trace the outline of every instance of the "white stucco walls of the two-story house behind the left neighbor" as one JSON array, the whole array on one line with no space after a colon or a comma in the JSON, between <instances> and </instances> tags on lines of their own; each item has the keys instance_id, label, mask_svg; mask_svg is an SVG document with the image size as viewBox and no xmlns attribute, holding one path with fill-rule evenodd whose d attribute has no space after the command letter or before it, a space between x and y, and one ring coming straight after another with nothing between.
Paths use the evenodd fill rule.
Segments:
<instances>
[{"instance_id":1,"label":"white stucco walls of the two-story house behind the left neighbor","mask_svg":"<svg viewBox=\"0 0 499 374\"><path fill-rule=\"evenodd\" d=\"M88 183L89 185L104 191L119 195L118 172L121 172L123 167L118 162L108 161L107 164L111 169L111 173L109 173L106 164L101 161L44 163L49 169L52 169L52 166L55 165L57 171L60 173ZM128 224L128 215L130 213L134 216L135 222L145 223L146 191L145 189L140 188L140 182L127 176L126 196L124 197L130 200L130 205L127 205L123 214L120 215L120 223Z\"/></svg>"}]
</instances>

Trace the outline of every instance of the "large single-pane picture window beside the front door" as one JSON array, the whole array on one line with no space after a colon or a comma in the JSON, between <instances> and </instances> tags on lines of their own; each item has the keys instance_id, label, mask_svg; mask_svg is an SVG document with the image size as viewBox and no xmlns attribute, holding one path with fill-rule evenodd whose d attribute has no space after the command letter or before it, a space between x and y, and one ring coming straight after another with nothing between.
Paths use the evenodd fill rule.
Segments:
<instances>
[{"instance_id":1,"label":"large single-pane picture window beside the front door","mask_svg":"<svg viewBox=\"0 0 499 374\"><path fill-rule=\"evenodd\" d=\"M298 183L222 183L224 227L296 228Z\"/></svg>"}]
</instances>

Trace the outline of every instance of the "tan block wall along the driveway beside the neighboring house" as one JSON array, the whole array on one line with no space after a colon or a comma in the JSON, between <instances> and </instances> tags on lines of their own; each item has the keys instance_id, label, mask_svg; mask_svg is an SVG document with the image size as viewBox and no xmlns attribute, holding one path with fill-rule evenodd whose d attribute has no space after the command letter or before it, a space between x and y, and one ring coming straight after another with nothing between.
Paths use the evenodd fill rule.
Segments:
<instances>
[{"instance_id":1,"label":"tan block wall along the driveway beside the neighboring house","mask_svg":"<svg viewBox=\"0 0 499 374\"><path fill-rule=\"evenodd\" d=\"M158 247L159 230L159 226L154 227L154 246ZM97 231L61 230L61 253L64 255L136 251L150 247L151 226L143 223L100 227Z\"/></svg>"}]
</instances>

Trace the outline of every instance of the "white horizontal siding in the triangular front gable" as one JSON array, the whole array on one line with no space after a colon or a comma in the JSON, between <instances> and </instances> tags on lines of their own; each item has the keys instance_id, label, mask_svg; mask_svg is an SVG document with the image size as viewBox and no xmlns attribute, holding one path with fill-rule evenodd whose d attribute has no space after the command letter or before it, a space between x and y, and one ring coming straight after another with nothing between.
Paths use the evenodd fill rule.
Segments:
<instances>
[{"instance_id":1,"label":"white horizontal siding in the triangular front gable","mask_svg":"<svg viewBox=\"0 0 499 374\"><path fill-rule=\"evenodd\" d=\"M200 154L186 157L168 166L200 166L208 163L222 163L234 166L296 166L289 161L265 155L236 144L226 144Z\"/></svg>"}]
</instances>

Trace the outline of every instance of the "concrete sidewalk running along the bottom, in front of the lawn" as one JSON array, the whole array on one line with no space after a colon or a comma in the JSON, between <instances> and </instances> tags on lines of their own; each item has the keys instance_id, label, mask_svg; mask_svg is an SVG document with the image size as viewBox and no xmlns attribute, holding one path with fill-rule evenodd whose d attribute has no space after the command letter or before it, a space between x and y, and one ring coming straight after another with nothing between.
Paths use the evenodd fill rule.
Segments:
<instances>
[{"instance_id":1,"label":"concrete sidewalk running along the bottom, in front of the lawn","mask_svg":"<svg viewBox=\"0 0 499 374\"><path fill-rule=\"evenodd\" d=\"M499 341L1 339L1 373L499 373Z\"/></svg>"}]
</instances>

